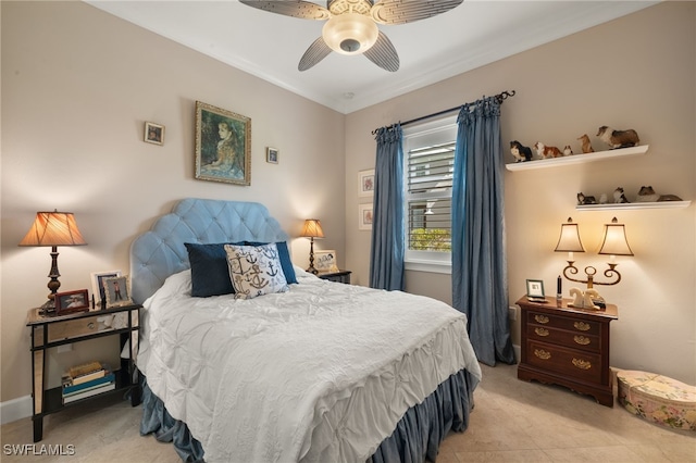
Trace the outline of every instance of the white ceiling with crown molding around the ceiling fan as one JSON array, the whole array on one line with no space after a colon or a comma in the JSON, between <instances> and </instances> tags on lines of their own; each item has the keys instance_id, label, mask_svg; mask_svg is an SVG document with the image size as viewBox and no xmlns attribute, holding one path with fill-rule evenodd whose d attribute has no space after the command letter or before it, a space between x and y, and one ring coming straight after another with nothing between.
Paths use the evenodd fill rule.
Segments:
<instances>
[{"instance_id":1,"label":"white ceiling with crown molding around the ceiling fan","mask_svg":"<svg viewBox=\"0 0 696 463\"><path fill-rule=\"evenodd\" d=\"M365 57L337 53L299 72L297 64L324 22L236 0L84 1L345 114L658 3L464 0L427 20L380 25L401 61L399 71L389 73Z\"/></svg>"}]
</instances>

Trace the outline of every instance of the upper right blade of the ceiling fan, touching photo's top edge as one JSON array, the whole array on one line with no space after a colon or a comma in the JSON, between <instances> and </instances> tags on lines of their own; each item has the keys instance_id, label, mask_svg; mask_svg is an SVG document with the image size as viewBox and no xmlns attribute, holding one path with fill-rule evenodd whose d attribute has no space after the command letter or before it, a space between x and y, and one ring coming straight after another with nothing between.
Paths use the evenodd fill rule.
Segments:
<instances>
[{"instance_id":1,"label":"upper right blade of the ceiling fan, touching photo's top edge","mask_svg":"<svg viewBox=\"0 0 696 463\"><path fill-rule=\"evenodd\" d=\"M383 0L372 7L372 18L380 24L406 24L425 20L459 7L464 0Z\"/></svg>"}]
</instances>

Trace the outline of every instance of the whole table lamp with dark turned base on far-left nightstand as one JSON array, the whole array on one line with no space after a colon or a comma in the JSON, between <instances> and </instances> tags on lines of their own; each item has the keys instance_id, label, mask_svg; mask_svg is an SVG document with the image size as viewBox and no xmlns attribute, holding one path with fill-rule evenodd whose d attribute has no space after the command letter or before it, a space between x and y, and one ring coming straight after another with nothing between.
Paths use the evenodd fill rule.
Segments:
<instances>
[{"instance_id":1,"label":"whole table lamp with dark turned base on far-left nightstand","mask_svg":"<svg viewBox=\"0 0 696 463\"><path fill-rule=\"evenodd\" d=\"M50 281L48 289L48 301L41 305L45 313L55 310L55 293L61 287L58 277L58 247L59 246L84 246L87 245L77 228L75 215L72 212L37 212L32 228L20 241L20 246L50 246L51 247L51 271L48 274Z\"/></svg>"}]
</instances>

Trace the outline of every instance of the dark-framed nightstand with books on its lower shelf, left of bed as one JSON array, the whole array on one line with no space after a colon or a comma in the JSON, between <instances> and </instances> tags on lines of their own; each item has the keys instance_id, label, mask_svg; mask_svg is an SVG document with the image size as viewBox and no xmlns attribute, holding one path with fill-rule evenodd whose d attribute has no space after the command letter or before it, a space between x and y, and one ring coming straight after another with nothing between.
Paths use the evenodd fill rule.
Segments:
<instances>
[{"instance_id":1,"label":"dark-framed nightstand with books on its lower shelf, left of bed","mask_svg":"<svg viewBox=\"0 0 696 463\"><path fill-rule=\"evenodd\" d=\"M140 403L140 387L133 361L134 346L128 342L129 355L121 359L119 368L114 368L115 389L63 404L62 387L46 389L46 350L63 345L119 336L120 348L133 337L138 337L139 310L142 305L124 305L120 308L72 313L67 315L41 315L41 309L30 309L27 313L26 325L32 330L32 371L34 399L34 441L44 438L44 416L59 412L66 406L90 400L114 391L123 392L130 389L130 404Z\"/></svg>"}]
</instances>

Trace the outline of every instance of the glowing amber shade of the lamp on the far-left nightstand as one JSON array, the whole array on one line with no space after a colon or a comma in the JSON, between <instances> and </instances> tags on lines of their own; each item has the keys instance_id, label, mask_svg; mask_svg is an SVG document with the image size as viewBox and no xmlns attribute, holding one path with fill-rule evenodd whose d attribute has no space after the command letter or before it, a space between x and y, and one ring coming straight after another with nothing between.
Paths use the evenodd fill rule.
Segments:
<instances>
[{"instance_id":1,"label":"glowing amber shade of the lamp on the far-left nightstand","mask_svg":"<svg viewBox=\"0 0 696 463\"><path fill-rule=\"evenodd\" d=\"M72 212L37 212L32 228L20 246L87 245Z\"/></svg>"}]
</instances>

